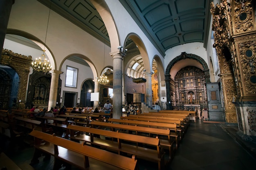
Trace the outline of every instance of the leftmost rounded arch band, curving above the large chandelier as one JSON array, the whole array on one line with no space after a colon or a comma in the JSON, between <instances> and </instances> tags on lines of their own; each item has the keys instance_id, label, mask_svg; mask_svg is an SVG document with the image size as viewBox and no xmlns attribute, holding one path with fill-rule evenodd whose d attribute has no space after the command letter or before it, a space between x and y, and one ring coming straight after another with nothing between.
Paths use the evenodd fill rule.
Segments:
<instances>
[{"instance_id":1,"label":"leftmost rounded arch band, curving above the large chandelier","mask_svg":"<svg viewBox=\"0 0 256 170\"><path fill-rule=\"evenodd\" d=\"M45 54L49 58L49 61L52 65L52 69L53 70L57 69L56 60L55 60L55 57L54 57L52 51L49 49L49 47L42 40L40 40L39 38L37 38L36 36L34 36L30 33L27 33L25 31L20 31L20 30L17 30L17 29L7 29L6 34L19 35L19 36L22 36L24 38L27 38L27 39L31 40L32 42L34 42L36 45L38 45L42 50L45 47L45 49L47 49L45 51Z\"/></svg>"}]
</instances>

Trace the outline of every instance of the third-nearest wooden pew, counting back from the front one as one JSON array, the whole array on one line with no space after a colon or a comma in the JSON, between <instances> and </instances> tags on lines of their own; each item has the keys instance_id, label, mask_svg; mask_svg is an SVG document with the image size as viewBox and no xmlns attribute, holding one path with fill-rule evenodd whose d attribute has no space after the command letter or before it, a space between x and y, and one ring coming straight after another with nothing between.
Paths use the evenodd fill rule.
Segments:
<instances>
[{"instance_id":1,"label":"third-nearest wooden pew, counting back from the front one","mask_svg":"<svg viewBox=\"0 0 256 170\"><path fill-rule=\"evenodd\" d=\"M128 133L135 132L135 135L142 135L142 133L147 133L149 137L158 136L160 141L160 146L166 146L169 150L169 159L173 158L173 141L171 140L170 130L168 129L157 129L157 128L148 128L141 126L132 126L132 125L124 125L124 124L114 124L100 121L91 121L90 125L93 128L111 128L112 131L119 130L122 132L123 130L128 130ZM142 133L141 133L142 132ZM161 138L162 137L162 138Z\"/></svg>"}]
</instances>

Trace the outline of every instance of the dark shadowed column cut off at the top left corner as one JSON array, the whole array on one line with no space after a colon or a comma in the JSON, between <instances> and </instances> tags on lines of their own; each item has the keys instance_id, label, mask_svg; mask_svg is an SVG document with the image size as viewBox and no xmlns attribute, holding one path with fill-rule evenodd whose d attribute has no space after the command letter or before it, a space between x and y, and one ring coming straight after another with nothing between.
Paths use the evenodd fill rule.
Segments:
<instances>
[{"instance_id":1,"label":"dark shadowed column cut off at the top left corner","mask_svg":"<svg viewBox=\"0 0 256 170\"><path fill-rule=\"evenodd\" d=\"M4 46L4 38L7 30L7 25L11 13L11 6L15 0L0 0L0 48L1 53ZM2 56L0 56L1 60Z\"/></svg>"}]
</instances>

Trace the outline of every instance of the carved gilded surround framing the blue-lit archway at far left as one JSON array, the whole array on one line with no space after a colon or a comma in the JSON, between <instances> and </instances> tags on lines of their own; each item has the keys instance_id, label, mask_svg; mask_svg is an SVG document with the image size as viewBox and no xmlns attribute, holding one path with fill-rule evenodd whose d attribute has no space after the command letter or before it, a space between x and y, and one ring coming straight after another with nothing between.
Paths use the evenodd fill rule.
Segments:
<instances>
[{"instance_id":1,"label":"carved gilded surround framing the blue-lit archway at far left","mask_svg":"<svg viewBox=\"0 0 256 170\"><path fill-rule=\"evenodd\" d=\"M16 104L16 106L20 109L25 108L25 97L27 91L28 75L32 61L31 59L31 56L13 53L8 49L2 50L2 58L0 64L7 65L13 68L20 79Z\"/></svg>"}]
</instances>

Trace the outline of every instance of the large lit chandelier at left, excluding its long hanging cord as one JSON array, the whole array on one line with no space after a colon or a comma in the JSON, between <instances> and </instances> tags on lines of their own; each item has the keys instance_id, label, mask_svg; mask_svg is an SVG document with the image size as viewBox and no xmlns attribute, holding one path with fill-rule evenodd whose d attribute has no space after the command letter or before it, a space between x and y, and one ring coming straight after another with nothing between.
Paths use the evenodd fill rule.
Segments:
<instances>
[{"instance_id":1,"label":"large lit chandelier at left, excluding its long hanging cord","mask_svg":"<svg viewBox=\"0 0 256 170\"><path fill-rule=\"evenodd\" d=\"M31 66L35 71L49 73L49 71L52 70L52 66L49 63L49 60L45 58L45 50L43 50L43 54L41 56L42 57L39 57L38 59L36 58L36 60L31 63Z\"/></svg>"}]
</instances>

